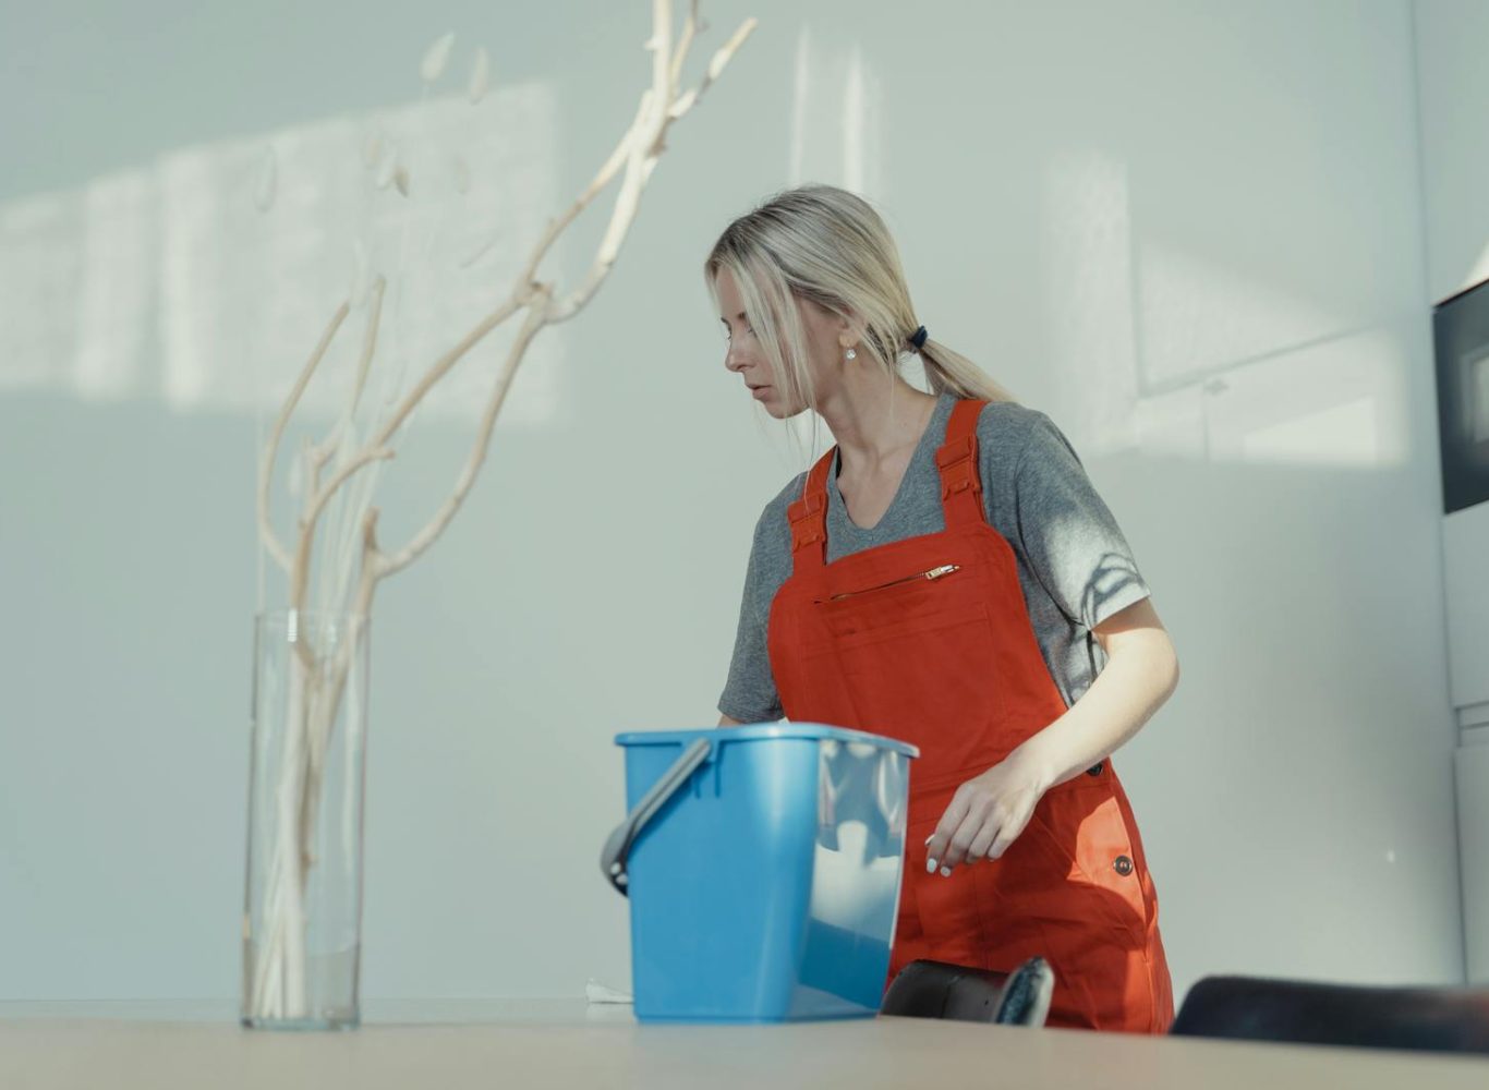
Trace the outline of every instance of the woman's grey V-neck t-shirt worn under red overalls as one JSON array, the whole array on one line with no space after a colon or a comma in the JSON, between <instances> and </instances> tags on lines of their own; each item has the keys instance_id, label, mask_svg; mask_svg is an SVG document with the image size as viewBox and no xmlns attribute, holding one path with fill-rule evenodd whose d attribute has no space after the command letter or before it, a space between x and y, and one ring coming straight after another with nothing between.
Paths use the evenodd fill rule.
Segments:
<instances>
[{"instance_id":1,"label":"woman's grey V-neck t-shirt worn under red overalls","mask_svg":"<svg viewBox=\"0 0 1489 1090\"><path fill-rule=\"evenodd\" d=\"M834 457L828 475L828 563L946 529L935 453L946 442L954 405L948 393L937 399L899 491L873 529L849 518ZM987 521L1013 546L1039 651L1065 703L1074 704L1103 661L1090 630L1148 597L1148 585L1075 450L1044 412L993 402L977 420L977 444ZM755 524L734 657L719 697L719 712L740 722L783 715L765 649L765 624L776 591L791 576L786 506L801 496L804 481L806 474L798 474Z\"/></svg>"}]
</instances>

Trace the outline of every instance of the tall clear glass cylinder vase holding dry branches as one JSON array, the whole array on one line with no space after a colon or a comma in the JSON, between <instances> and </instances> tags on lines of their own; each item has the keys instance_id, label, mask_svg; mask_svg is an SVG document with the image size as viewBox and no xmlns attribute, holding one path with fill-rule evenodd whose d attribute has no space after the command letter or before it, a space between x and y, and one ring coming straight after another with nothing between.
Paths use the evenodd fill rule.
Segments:
<instances>
[{"instance_id":1,"label":"tall clear glass cylinder vase holding dry branches","mask_svg":"<svg viewBox=\"0 0 1489 1090\"><path fill-rule=\"evenodd\" d=\"M244 1026L350 1029L360 1019L368 627L345 613L256 618Z\"/></svg>"}]
</instances>

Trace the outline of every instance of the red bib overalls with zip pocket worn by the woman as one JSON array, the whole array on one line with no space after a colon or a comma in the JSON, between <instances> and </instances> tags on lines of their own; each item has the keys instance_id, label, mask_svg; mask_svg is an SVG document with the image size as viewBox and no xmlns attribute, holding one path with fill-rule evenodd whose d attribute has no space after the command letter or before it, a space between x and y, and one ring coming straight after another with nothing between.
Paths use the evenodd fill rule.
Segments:
<instances>
[{"instance_id":1,"label":"red bib overalls with zip pocket worn by the woman","mask_svg":"<svg viewBox=\"0 0 1489 1090\"><path fill-rule=\"evenodd\" d=\"M792 575L768 649L789 719L884 734L911 764L890 980L929 957L1054 969L1048 1024L1161 1033L1173 1020L1158 902L1127 795L1103 761L1048 791L996 861L926 873L926 838L956 788L1060 718L1014 552L983 517L977 417L951 411L937 453L946 530L826 563L832 451L788 509Z\"/></svg>"}]
</instances>

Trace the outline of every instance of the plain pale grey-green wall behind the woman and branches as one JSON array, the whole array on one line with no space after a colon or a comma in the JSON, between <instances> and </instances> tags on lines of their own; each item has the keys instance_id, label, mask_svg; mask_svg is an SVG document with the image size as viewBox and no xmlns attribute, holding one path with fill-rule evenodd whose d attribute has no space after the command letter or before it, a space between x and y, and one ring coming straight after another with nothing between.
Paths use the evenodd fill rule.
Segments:
<instances>
[{"instance_id":1,"label":"plain pale grey-green wall behind the woman and branches","mask_svg":"<svg viewBox=\"0 0 1489 1090\"><path fill-rule=\"evenodd\" d=\"M795 469L722 371L698 265L806 179L884 208L922 319L1065 426L1155 587L1184 681L1118 767L1179 993L1219 971L1459 980L1404 0L943 1L908 28L890 4L709 7L709 46L746 13L761 30L676 130L612 281L524 375L453 530L380 597L366 993L627 978L625 907L596 873L621 810L610 737L713 722L749 530ZM113 316L80 356L45 320L91 268L57 258L86 252L79 192L138 168L150 253L182 211L150 194L179 195L183 164L223 171L191 192L241 200L223 164L406 106L454 28L552 112L509 210L536 225L630 118L645 4L156 0L0 24L0 319L54 338L33 337L40 363L10 353L24 375L0 362L0 998L232 995L275 393L255 384L293 368L339 280L244 332L235 290L283 290L161 243L173 283L235 323L216 345L235 363L210 337L183 359L171 332L204 337L201 313L138 284L149 329ZM43 213L73 241L16 256ZM64 287L10 302L43 272ZM468 433L459 414L415 429L384 508L412 524Z\"/></svg>"}]
</instances>

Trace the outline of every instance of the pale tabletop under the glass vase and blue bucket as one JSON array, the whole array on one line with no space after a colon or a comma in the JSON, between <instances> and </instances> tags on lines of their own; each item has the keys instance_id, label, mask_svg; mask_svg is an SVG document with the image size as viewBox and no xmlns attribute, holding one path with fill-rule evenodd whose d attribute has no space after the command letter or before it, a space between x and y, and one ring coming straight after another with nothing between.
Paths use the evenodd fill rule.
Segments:
<instances>
[{"instance_id":1,"label":"pale tabletop under the glass vase and blue bucket","mask_svg":"<svg viewBox=\"0 0 1489 1090\"><path fill-rule=\"evenodd\" d=\"M369 1002L360 1029L246 1030L231 1002L3 1004L0 1087L1184 1087L1489 1090L1489 1059L925 1019L640 1026L561 1001Z\"/></svg>"}]
</instances>

